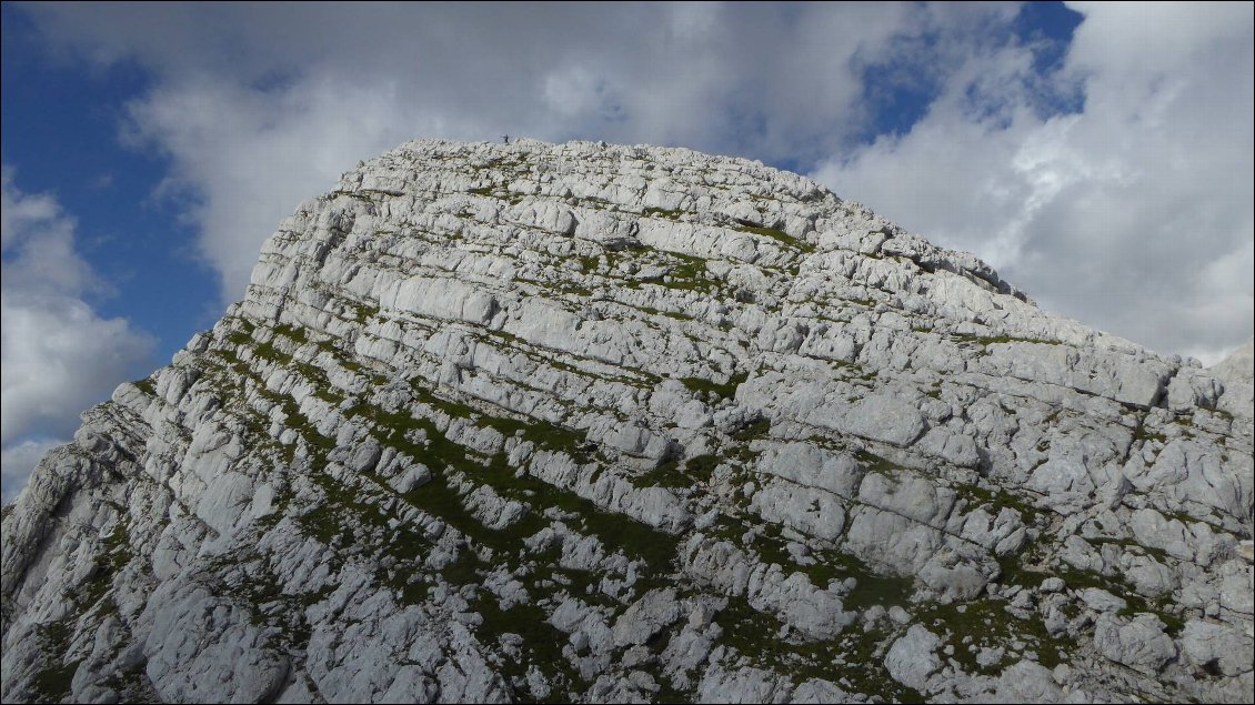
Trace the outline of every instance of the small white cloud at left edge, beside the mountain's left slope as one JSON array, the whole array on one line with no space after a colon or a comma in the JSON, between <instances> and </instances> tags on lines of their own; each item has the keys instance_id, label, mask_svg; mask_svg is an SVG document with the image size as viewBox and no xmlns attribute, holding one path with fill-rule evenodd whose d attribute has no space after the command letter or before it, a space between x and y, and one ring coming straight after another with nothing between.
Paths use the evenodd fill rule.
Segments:
<instances>
[{"instance_id":1,"label":"small white cloud at left edge, beside the mountain's left slope","mask_svg":"<svg viewBox=\"0 0 1255 705\"><path fill-rule=\"evenodd\" d=\"M8 499L43 450L69 438L79 411L149 365L153 340L125 319L104 319L92 309L87 299L108 287L77 253L74 220L51 196L18 189L8 167L0 228L0 445Z\"/></svg>"}]
</instances>

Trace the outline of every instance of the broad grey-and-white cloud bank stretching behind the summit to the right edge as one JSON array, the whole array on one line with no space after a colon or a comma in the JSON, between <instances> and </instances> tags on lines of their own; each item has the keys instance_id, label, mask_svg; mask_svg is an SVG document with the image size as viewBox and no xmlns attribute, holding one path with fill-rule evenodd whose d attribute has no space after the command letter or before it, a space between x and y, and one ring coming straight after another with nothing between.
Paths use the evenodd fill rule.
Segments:
<instances>
[{"instance_id":1,"label":"broad grey-and-white cloud bank stretching behind the summit to the right edge","mask_svg":"<svg viewBox=\"0 0 1255 705\"><path fill-rule=\"evenodd\" d=\"M1077 9L1068 46L1001 4L28 13L63 60L152 77L122 133L168 157L223 300L358 159L510 133L809 172L1050 307L1215 356L1251 329L1251 10Z\"/></svg>"}]
</instances>

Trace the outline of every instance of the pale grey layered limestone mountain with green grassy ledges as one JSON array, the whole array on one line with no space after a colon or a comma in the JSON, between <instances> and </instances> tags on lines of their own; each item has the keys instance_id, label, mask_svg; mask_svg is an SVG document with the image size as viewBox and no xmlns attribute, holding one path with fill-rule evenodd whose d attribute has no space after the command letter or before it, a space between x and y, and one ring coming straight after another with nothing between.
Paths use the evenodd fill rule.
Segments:
<instances>
[{"instance_id":1,"label":"pale grey layered limestone mountain with green grassy ledges","mask_svg":"<svg viewBox=\"0 0 1255 705\"><path fill-rule=\"evenodd\" d=\"M1250 347L758 162L409 142L4 509L5 701L1250 701Z\"/></svg>"}]
</instances>

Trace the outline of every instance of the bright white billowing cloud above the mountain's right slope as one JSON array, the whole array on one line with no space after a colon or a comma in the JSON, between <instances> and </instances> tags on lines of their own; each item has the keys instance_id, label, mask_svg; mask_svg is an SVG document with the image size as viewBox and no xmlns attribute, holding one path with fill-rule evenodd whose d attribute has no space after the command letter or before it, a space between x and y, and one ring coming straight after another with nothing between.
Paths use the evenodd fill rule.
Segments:
<instances>
[{"instance_id":1,"label":"bright white billowing cloud above the mountain's right slope","mask_svg":"<svg viewBox=\"0 0 1255 705\"><path fill-rule=\"evenodd\" d=\"M1048 309L1215 361L1255 311L1251 6L1076 9L1049 85L1030 46L969 51L909 133L814 176ZM1082 107L1043 115L1043 89Z\"/></svg>"}]
</instances>

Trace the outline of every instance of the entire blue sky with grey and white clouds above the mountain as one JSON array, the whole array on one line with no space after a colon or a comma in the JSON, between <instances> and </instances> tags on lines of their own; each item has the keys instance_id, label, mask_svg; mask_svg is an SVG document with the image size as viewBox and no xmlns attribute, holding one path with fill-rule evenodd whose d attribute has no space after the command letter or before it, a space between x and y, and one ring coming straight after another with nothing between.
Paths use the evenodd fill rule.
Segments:
<instances>
[{"instance_id":1,"label":"entire blue sky with grey and white clouds above the mountain","mask_svg":"<svg viewBox=\"0 0 1255 705\"><path fill-rule=\"evenodd\" d=\"M413 138L809 176L1045 309L1219 361L1252 329L1252 5L0 4L3 474L243 296Z\"/></svg>"}]
</instances>

